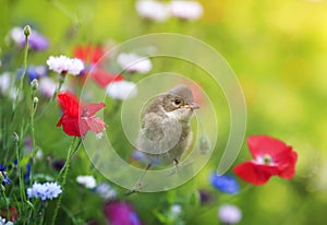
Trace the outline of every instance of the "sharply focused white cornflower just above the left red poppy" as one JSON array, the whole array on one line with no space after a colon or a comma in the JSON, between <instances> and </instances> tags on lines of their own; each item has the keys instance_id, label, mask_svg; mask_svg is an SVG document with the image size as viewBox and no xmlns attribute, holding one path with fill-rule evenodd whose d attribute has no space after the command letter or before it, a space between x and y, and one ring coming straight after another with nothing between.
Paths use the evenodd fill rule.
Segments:
<instances>
[{"instance_id":1,"label":"sharply focused white cornflower just above the left red poppy","mask_svg":"<svg viewBox=\"0 0 327 225\"><path fill-rule=\"evenodd\" d=\"M69 58L66 56L52 57L47 60L50 70L58 73L70 73L78 75L84 70L84 63L77 58Z\"/></svg>"}]
</instances>

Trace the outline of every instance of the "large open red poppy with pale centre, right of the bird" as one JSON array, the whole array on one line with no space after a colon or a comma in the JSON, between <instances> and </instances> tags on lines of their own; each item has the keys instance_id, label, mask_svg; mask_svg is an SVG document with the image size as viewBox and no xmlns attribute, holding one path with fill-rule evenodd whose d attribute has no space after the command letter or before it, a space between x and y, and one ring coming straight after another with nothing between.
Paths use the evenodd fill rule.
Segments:
<instances>
[{"instance_id":1,"label":"large open red poppy with pale centre, right of the bird","mask_svg":"<svg viewBox=\"0 0 327 225\"><path fill-rule=\"evenodd\" d=\"M243 180L264 185L275 175L284 179L294 176L298 154L291 146L268 135L252 135L247 145L254 159L233 168Z\"/></svg>"}]
</instances>

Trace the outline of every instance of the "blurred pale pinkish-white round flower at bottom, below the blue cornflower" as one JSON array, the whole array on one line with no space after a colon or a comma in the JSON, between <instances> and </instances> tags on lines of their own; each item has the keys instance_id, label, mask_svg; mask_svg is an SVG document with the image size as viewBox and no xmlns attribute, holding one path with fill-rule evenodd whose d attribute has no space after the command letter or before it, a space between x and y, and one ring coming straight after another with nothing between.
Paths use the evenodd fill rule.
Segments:
<instances>
[{"instance_id":1,"label":"blurred pale pinkish-white round flower at bottom, below the blue cornflower","mask_svg":"<svg viewBox=\"0 0 327 225\"><path fill-rule=\"evenodd\" d=\"M232 204L223 204L219 208L218 217L222 223L235 224L242 218L241 210Z\"/></svg>"}]
</instances>

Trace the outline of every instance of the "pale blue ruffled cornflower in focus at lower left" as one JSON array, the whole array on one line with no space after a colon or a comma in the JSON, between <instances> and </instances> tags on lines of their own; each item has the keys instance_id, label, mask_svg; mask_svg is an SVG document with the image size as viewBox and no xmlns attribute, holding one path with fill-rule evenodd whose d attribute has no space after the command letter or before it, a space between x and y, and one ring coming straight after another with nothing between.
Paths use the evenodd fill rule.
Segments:
<instances>
[{"instance_id":1,"label":"pale blue ruffled cornflower in focus at lower left","mask_svg":"<svg viewBox=\"0 0 327 225\"><path fill-rule=\"evenodd\" d=\"M37 183L35 182L32 188L27 189L27 197L31 198L40 198L43 201L47 199L55 199L62 192L61 186L57 182L45 182Z\"/></svg>"}]
</instances>

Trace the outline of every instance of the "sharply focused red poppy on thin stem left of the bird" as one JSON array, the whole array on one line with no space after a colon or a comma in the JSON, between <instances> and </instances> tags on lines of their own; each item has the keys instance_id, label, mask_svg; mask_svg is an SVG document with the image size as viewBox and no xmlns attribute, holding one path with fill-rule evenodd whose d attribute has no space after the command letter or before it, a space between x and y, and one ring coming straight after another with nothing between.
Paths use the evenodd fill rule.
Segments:
<instances>
[{"instance_id":1,"label":"sharply focused red poppy on thin stem left of the bird","mask_svg":"<svg viewBox=\"0 0 327 225\"><path fill-rule=\"evenodd\" d=\"M82 137L88 130L100 133L105 130L105 122L94 115L105 107L104 103L93 103L85 105L70 92L61 92L58 95L60 106L63 110L57 127L63 128L69 135Z\"/></svg>"}]
</instances>

